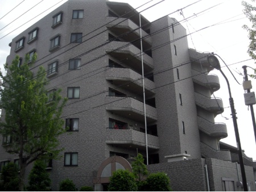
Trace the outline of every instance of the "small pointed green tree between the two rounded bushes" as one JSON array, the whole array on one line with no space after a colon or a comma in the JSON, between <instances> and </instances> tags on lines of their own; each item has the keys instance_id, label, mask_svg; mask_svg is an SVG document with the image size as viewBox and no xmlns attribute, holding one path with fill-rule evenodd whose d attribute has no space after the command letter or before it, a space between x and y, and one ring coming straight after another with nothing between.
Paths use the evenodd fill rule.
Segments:
<instances>
[{"instance_id":1,"label":"small pointed green tree between the two rounded bushes","mask_svg":"<svg viewBox=\"0 0 256 192\"><path fill-rule=\"evenodd\" d=\"M135 161L131 163L131 166L135 178L139 181L142 181L143 177L148 175L147 166L144 164L144 158L141 153L138 153L138 156L135 157Z\"/></svg>"}]
</instances>

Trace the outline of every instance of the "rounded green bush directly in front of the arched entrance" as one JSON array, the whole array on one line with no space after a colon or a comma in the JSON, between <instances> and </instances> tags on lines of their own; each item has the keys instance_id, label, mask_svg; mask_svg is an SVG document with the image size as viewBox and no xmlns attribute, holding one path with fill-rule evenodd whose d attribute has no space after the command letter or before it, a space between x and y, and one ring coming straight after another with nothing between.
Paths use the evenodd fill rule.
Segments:
<instances>
[{"instance_id":1,"label":"rounded green bush directly in front of the arched entrance","mask_svg":"<svg viewBox=\"0 0 256 192\"><path fill-rule=\"evenodd\" d=\"M135 182L133 173L128 170L119 169L113 172L110 177L108 191L137 191L138 187Z\"/></svg>"}]
</instances>

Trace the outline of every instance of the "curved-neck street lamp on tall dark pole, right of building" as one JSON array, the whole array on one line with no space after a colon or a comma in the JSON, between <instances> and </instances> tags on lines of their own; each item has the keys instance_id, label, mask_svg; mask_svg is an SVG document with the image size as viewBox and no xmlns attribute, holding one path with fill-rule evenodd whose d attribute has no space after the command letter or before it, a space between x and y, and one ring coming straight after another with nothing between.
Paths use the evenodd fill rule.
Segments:
<instances>
[{"instance_id":1,"label":"curved-neck street lamp on tall dark pole, right of building","mask_svg":"<svg viewBox=\"0 0 256 192\"><path fill-rule=\"evenodd\" d=\"M233 124L234 124L234 131L236 134L236 140L237 140L237 148L238 148L238 157L239 157L239 162L240 162L240 168L241 168L241 174L242 174L242 181L243 181L243 190L248 191L247 188L247 181L246 181L246 175L245 175L245 165L243 164L243 155L242 155L242 148L241 148L241 142L240 142L240 136L238 132L238 126L237 126L237 116L236 116L236 110L234 109L234 100L231 95L231 90L229 86L229 81L228 78L226 78L225 74L222 72L221 67L220 67L220 62L218 61L217 57L214 55L209 55L207 57L207 60L213 68L220 70L222 76L224 76L226 83L228 84L228 89L229 89L229 104L231 108L231 115L233 119Z\"/></svg>"}]
</instances>

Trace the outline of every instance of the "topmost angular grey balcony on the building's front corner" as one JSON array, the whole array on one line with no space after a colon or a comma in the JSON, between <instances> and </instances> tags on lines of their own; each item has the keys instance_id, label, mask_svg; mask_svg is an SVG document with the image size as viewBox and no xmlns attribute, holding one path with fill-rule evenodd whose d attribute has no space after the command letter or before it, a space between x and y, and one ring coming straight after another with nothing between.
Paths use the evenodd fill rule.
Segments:
<instances>
[{"instance_id":1,"label":"topmost angular grey balcony on the building's front corner","mask_svg":"<svg viewBox=\"0 0 256 192\"><path fill-rule=\"evenodd\" d=\"M106 27L109 31L112 31L115 35L121 37L125 41L133 41L137 47L141 47L141 33L137 24L132 22L130 19L115 18L112 16L109 16L106 22L108 23L106 24ZM142 39L143 50L150 49L152 45L151 36L143 30L141 32L142 38L145 37Z\"/></svg>"}]
</instances>

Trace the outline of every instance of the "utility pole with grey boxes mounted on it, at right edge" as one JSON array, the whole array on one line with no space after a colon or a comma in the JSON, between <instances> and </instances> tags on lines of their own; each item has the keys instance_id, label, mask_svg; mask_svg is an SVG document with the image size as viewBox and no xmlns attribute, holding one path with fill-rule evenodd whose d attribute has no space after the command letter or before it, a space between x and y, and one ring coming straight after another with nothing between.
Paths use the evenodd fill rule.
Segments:
<instances>
[{"instance_id":1,"label":"utility pole with grey boxes mounted on it, at right edge","mask_svg":"<svg viewBox=\"0 0 256 192\"><path fill-rule=\"evenodd\" d=\"M251 86L251 81L248 81L248 75L247 75L247 66L243 65L243 73L245 74L245 81L243 82L243 89L247 91L245 93L245 105L250 105L250 110L251 110L251 119L253 120L253 130L254 130L254 137L255 137L255 142L256 142L256 123L255 123L255 118L254 118L254 110L253 110L253 105L255 104L255 94L254 92L251 92L250 89L252 88Z\"/></svg>"}]
</instances>

